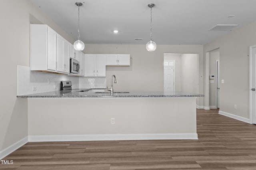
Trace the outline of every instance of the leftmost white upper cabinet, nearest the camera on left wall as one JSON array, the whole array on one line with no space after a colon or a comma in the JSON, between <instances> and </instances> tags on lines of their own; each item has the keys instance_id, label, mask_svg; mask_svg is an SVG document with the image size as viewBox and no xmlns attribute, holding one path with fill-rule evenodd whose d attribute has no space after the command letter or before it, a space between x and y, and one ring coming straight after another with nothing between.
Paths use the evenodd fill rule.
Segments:
<instances>
[{"instance_id":1,"label":"leftmost white upper cabinet, nearest the camera on left wall","mask_svg":"<svg viewBox=\"0 0 256 170\"><path fill-rule=\"evenodd\" d=\"M47 25L30 24L30 69L56 71L57 33Z\"/></svg>"}]
</instances>

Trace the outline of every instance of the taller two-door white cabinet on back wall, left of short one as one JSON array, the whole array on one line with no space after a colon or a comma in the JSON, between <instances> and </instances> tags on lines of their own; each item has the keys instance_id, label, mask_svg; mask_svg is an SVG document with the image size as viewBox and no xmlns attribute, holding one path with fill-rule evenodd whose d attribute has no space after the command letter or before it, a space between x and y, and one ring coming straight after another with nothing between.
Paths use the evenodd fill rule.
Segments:
<instances>
[{"instance_id":1,"label":"taller two-door white cabinet on back wall, left of short one","mask_svg":"<svg viewBox=\"0 0 256 170\"><path fill-rule=\"evenodd\" d=\"M106 54L86 54L87 77L106 77Z\"/></svg>"}]
</instances>

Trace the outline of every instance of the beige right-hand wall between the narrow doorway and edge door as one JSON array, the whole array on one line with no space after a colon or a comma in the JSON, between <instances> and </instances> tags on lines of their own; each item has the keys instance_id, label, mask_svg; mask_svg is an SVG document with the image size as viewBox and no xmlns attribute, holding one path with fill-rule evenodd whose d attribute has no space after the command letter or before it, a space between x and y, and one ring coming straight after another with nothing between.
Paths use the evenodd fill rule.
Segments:
<instances>
[{"instance_id":1,"label":"beige right-hand wall between the narrow doorway and edge door","mask_svg":"<svg viewBox=\"0 0 256 170\"><path fill-rule=\"evenodd\" d=\"M220 83L220 111L247 119L250 117L248 56L249 47L256 44L255 30L256 22L204 45L205 54L220 48L220 79L224 79ZM204 57L207 60L207 55Z\"/></svg>"}]
</instances>

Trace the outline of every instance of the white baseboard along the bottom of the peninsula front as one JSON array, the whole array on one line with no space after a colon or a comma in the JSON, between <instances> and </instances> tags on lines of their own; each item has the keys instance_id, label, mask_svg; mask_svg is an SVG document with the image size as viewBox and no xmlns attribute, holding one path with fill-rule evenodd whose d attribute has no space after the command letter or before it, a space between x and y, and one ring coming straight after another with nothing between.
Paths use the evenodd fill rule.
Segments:
<instances>
[{"instance_id":1,"label":"white baseboard along the bottom of the peninsula front","mask_svg":"<svg viewBox=\"0 0 256 170\"><path fill-rule=\"evenodd\" d=\"M198 139L196 133L168 134L85 134L85 135L29 135L29 142L95 141L95 140L170 140Z\"/></svg>"}]
</instances>

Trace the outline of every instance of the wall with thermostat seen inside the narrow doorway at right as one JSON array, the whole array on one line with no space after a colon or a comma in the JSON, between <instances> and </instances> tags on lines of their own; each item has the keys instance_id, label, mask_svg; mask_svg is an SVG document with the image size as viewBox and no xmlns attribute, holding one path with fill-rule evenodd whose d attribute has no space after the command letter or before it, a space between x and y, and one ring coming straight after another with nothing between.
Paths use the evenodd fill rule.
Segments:
<instances>
[{"instance_id":1,"label":"wall with thermostat seen inside the narrow doorway at right","mask_svg":"<svg viewBox=\"0 0 256 170\"><path fill-rule=\"evenodd\" d=\"M214 83L209 82L209 105L216 106L216 60L220 59L220 49L209 52L209 75L214 76ZM209 80L210 81L210 80Z\"/></svg>"}]
</instances>

